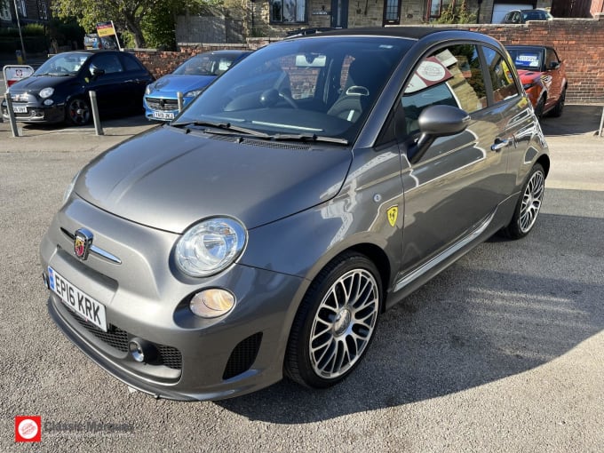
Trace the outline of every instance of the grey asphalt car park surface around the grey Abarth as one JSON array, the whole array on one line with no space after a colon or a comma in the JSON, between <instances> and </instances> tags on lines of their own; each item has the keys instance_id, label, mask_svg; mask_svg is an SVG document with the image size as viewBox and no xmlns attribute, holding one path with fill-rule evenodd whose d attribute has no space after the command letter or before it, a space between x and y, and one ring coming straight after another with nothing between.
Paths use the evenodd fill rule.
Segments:
<instances>
[{"instance_id":1,"label":"grey asphalt car park surface around the grey Abarth","mask_svg":"<svg viewBox=\"0 0 604 453\"><path fill-rule=\"evenodd\" d=\"M479 246L385 313L356 373L221 402L130 393L52 324L38 245L77 169L154 124L0 123L0 450L598 451L604 444L601 107L542 126L552 172L535 230ZM14 417L42 442L14 442Z\"/></svg>"}]
</instances>

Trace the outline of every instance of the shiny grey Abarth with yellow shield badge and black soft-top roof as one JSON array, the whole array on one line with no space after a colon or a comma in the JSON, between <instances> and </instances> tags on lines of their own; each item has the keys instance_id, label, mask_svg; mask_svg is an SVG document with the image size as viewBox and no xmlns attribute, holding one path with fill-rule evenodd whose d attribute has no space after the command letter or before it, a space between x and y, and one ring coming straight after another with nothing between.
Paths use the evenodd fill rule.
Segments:
<instances>
[{"instance_id":1,"label":"shiny grey Abarth with yellow shield badge and black soft-top roof","mask_svg":"<svg viewBox=\"0 0 604 453\"><path fill-rule=\"evenodd\" d=\"M48 309L156 397L334 385L386 308L492 234L531 231L547 153L488 36L285 39L76 175L41 245Z\"/></svg>"}]
</instances>

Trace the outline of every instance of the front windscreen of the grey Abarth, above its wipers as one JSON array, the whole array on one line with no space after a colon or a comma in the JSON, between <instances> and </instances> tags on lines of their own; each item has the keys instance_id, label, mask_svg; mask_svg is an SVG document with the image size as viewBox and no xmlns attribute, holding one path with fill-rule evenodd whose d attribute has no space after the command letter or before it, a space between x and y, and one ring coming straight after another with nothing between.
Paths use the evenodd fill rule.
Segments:
<instances>
[{"instance_id":1,"label":"front windscreen of the grey Abarth, above its wipers","mask_svg":"<svg viewBox=\"0 0 604 453\"><path fill-rule=\"evenodd\" d=\"M270 44L219 77L172 124L223 123L351 141L413 43L321 36Z\"/></svg>"}]
</instances>

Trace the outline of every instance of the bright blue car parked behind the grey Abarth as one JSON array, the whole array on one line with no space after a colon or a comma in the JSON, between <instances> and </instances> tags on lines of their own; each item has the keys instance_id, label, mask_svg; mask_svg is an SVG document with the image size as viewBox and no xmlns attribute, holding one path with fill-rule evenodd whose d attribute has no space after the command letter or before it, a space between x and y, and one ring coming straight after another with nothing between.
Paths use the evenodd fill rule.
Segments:
<instances>
[{"instance_id":1,"label":"bright blue car parked behind the grey Abarth","mask_svg":"<svg viewBox=\"0 0 604 453\"><path fill-rule=\"evenodd\" d=\"M179 91L183 94L183 107L187 106L216 77L250 53L246 51L200 53L185 61L171 74L148 84L143 97L147 119L173 120L179 113Z\"/></svg>"}]
</instances>

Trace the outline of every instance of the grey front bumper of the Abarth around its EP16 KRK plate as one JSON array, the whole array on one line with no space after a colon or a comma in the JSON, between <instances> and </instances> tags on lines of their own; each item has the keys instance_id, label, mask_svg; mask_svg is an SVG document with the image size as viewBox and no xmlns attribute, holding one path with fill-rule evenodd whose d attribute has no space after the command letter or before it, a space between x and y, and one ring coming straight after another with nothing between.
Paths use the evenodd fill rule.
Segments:
<instances>
[{"instance_id":1,"label":"grey front bumper of the Abarth around its EP16 KRK plate","mask_svg":"<svg viewBox=\"0 0 604 453\"><path fill-rule=\"evenodd\" d=\"M73 254L68 232L86 227L115 264ZM219 400L250 393L282 378L290 322L302 279L250 266L194 279L171 263L178 239L73 198L53 219L41 244L43 272L52 266L106 307L107 332L85 322L51 292L48 310L65 335L99 366L142 392L175 400ZM214 320L196 317L188 299L206 288L230 290L236 305ZM142 338L159 352L136 362L128 350Z\"/></svg>"}]
</instances>

